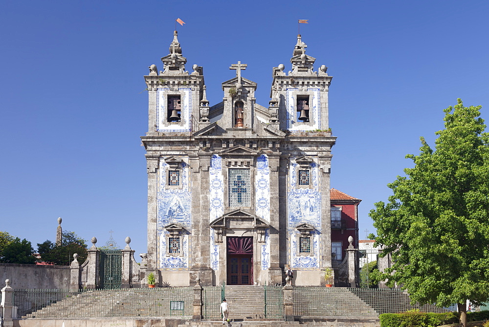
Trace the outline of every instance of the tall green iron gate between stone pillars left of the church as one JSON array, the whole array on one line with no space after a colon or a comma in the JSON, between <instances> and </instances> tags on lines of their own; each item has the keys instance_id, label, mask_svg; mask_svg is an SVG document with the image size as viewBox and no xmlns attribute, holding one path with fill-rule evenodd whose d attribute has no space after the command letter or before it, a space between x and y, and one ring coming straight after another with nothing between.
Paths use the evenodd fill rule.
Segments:
<instances>
[{"instance_id":1,"label":"tall green iron gate between stone pillars left of the church","mask_svg":"<svg viewBox=\"0 0 489 327\"><path fill-rule=\"evenodd\" d=\"M100 288L118 289L122 282L122 251L100 251Z\"/></svg>"}]
</instances>

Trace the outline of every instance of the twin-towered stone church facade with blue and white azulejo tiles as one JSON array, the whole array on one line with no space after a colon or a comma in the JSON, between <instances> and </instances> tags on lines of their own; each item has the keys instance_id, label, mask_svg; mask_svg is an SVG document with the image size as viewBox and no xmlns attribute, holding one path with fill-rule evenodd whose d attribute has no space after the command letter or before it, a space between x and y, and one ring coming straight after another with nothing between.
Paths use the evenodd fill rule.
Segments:
<instances>
[{"instance_id":1,"label":"twin-towered stone church facade with blue and white azulejo tiles","mask_svg":"<svg viewBox=\"0 0 489 327\"><path fill-rule=\"evenodd\" d=\"M332 77L324 65L314 71L306 47L298 35L291 70L272 69L267 106L241 62L211 105L202 67L185 70L177 31L162 69L149 67L146 271L160 284L270 285L287 268L295 285L325 284Z\"/></svg>"}]
</instances>

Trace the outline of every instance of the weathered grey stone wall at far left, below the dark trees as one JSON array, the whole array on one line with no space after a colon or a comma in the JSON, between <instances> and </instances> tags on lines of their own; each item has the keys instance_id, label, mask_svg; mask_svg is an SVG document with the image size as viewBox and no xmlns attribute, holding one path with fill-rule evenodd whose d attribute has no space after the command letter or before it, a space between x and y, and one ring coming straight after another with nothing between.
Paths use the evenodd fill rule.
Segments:
<instances>
[{"instance_id":1,"label":"weathered grey stone wall at far left, below the dark trees","mask_svg":"<svg viewBox=\"0 0 489 327\"><path fill-rule=\"evenodd\" d=\"M0 263L0 287L10 280L14 289L69 289L69 266Z\"/></svg>"}]
</instances>

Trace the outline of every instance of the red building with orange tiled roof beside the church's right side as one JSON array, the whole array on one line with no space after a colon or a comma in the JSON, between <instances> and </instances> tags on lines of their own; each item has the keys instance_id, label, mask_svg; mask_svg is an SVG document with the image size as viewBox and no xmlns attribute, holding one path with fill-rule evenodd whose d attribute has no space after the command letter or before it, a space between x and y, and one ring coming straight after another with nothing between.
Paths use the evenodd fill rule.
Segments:
<instances>
[{"instance_id":1,"label":"red building with orange tiled roof beside the church's right side","mask_svg":"<svg viewBox=\"0 0 489 327\"><path fill-rule=\"evenodd\" d=\"M348 236L353 237L353 246L358 249L358 204L362 201L353 196L331 189L331 251L336 260L345 257L350 245Z\"/></svg>"}]
</instances>

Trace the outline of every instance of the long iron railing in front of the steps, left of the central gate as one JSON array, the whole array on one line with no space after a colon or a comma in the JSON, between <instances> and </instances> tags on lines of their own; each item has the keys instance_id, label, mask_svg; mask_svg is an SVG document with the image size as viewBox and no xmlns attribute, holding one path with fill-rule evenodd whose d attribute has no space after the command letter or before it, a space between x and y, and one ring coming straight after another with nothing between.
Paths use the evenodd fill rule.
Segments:
<instances>
[{"instance_id":1,"label":"long iron railing in front of the steps, left of the central gate","mask_svg":"<svg viewBox=\"0 0 489 327\"><path fill-rule=\"evenodd\" d=\"M192 287L128 288L69 292L14 290L19 316L28 318L172 317L193 314Z\"/></svg>"}]
</instances>

